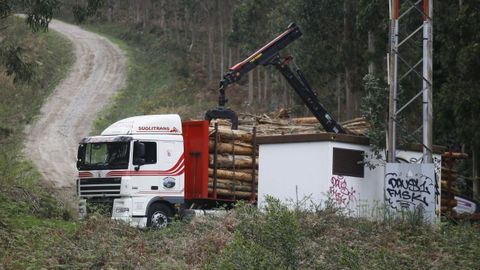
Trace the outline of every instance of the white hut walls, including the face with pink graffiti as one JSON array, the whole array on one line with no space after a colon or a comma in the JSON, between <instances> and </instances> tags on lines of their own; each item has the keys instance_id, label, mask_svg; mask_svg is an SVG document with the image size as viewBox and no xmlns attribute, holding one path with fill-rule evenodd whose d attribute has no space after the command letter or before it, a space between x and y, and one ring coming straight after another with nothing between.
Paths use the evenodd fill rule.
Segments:
<instances>
[{"instance_id":1,"label":"white hut walls, including the face with pink graffiti","mask_svg":"<svg viewBox=\"0 0 480 270\"><path fill-rule=\"evenodd\" d=\"M259 206L262 207L265 203L266 195L286 203L308 197L306 207L311 206L310 200L315 205L320 205L330 198L354 215L381 214L384 206L385 162L376 161L374 169L365 166L363 178L332 175L334 147L370 153L370 148L366 145L331 141L261 144ZM400 151L398 156L411 161L412 158L421 158L422 154ZM434 155L434 158L439 173L440 156Z\"/></svg>"}]
</instances>

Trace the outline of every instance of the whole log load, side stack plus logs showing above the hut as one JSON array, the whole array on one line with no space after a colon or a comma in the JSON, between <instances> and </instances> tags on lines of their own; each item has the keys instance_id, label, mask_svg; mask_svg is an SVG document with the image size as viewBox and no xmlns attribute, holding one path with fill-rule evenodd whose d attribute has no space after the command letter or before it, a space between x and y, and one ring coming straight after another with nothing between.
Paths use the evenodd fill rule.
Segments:
<instances>
[{"instance_id":1,"label":"whole log load, side stack plus logs showing above the hut","mask_svg":"<svg viewBox=\"0 0 480 270\"><path fill-rule=\"evenodd\" d=\"M369 128L363 118L340 124L353 135L364 135ZM272 116L240 114L238 130L231 129L230 121L216 119L209 131L209 195L248 200L256 200L258 186L256 135L325 132L315 117L288 118L284 110Z\"/></svg>"}]
</instances>

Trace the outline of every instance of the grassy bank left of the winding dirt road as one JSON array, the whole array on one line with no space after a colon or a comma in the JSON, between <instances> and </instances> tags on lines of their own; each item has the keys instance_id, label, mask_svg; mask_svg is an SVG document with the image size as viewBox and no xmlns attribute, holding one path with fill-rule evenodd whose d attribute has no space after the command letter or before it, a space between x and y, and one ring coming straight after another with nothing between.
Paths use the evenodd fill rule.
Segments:
<instances>
[{"instance_id":1,"label":"grassy bank left of the winding dirt road","mask_svg":"<svg viewBox=\"0 0 480 270\"><path fill-rule=\"evenodd\" d=\"M2 31L2 45L21 46L21 57L32 64L33 77L28 82L14 83L13 77L0 67L0 200L15 202L2 207L0 215L20 212L53 216L56 213L41 204L48 206L48 200L55 200L39 187L40 175L22 153L23 130L34 121L45 98L66 75L73 63L72 48L56 32L32 34L21 19L10 18L7 25ZM29 201L33 205L24 205Z\"/></svg>"}]
</instances>

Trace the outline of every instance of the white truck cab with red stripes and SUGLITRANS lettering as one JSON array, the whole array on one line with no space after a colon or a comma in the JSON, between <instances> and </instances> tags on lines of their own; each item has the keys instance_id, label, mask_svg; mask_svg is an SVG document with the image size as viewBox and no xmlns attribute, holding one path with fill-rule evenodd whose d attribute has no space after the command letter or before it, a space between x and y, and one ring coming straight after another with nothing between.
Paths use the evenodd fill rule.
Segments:
<instances>
[{"instance_id":1,"label":"white truck cab with red stripes and SUGLITRANS lettering","mask_svg":"<svg viewBox=\"0 0 480 270\"><path fill-rule=\"evenodd\" d=\"M80 213L86 214L87 202L105 203L114 219L139 227L165 226L173 206L184 203L180 117L120 120L100 136L80 141L77 168Z\"/></svg>"}]
</instances>

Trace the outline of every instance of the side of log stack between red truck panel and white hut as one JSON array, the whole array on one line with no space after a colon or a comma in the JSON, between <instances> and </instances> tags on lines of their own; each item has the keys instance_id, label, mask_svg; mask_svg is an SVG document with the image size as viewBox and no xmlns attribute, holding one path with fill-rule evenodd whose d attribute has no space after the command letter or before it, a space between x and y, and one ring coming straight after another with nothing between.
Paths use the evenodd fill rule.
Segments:
<instances>
[{"instance_id":1,"label":"side of log stack between red truck panel and white hut","mask_svg":"<svg viewBox=\"0 0 480 270\"><path fill-rule=\"evenodd\" d=\"M208 192L227 199L256 200L258 151L255 131L232 130L212 121L209 129Z\"/></svg>"}]
</instances>

